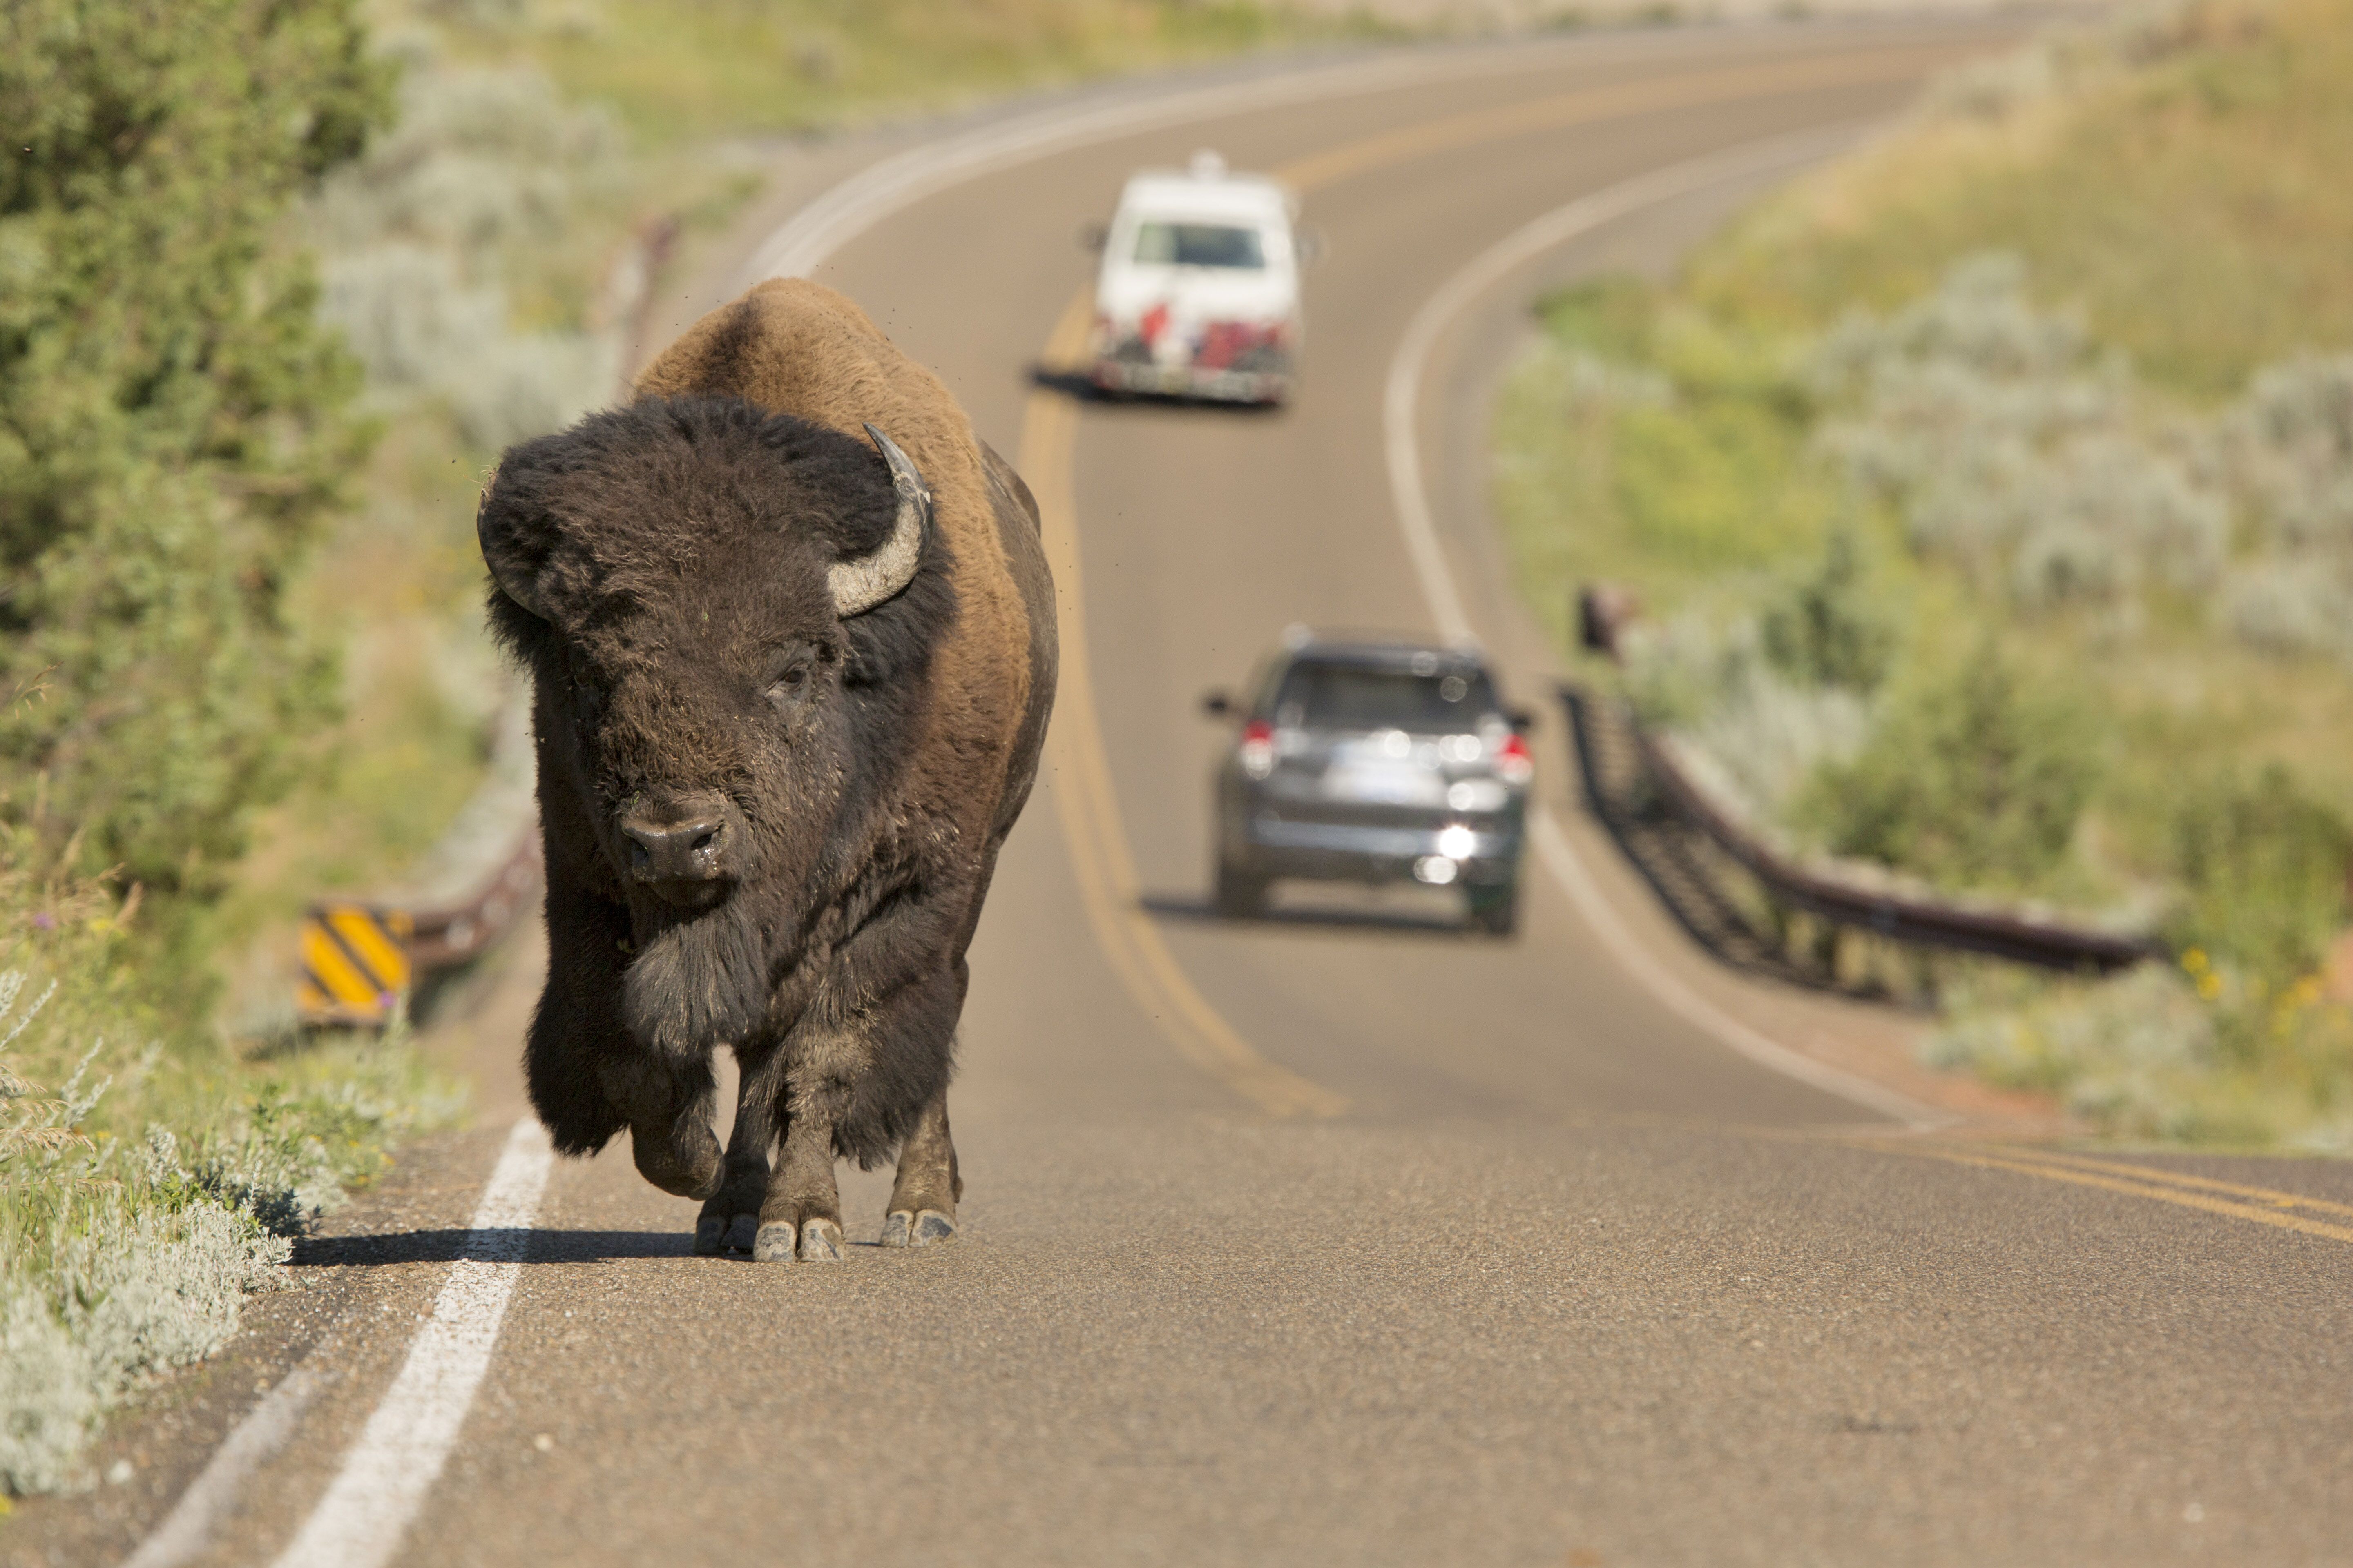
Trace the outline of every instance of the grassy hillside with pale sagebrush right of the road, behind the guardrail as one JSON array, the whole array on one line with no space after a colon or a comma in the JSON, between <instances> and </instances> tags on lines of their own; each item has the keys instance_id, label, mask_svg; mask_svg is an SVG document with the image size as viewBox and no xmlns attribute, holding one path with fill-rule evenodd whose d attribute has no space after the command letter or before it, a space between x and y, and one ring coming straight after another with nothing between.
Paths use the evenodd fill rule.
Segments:
<instances>
[{"instance_id":1,"label":"grassy hillside with pale sagebrush right of the road, behind the guardrail","mask_svg":"<svg viewBox=\"0 0 2353 1568\"><path fill-rule=\"evenodd\" d=\"M1567 635L1769 832L2155 929L1948 971L1941 1060L2132 1135L2353 1140L2353 5L2120 14L1939 85L1654 284L1546 301L1499 423Z\"/></svg>"}]
</instances>

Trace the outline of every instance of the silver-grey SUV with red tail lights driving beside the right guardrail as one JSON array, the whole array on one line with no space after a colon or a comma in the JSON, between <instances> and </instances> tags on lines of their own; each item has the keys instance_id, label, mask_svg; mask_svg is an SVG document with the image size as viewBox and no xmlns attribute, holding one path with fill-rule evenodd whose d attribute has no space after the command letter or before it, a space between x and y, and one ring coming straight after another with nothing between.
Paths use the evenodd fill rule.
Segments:
<instances>
[{"instance_id":1,"label":"silver-grey SUV with red tail lights driving beside the right guardrail","mask_svg":"<svg viewBox=\"0 0 2353 1568\"><path fill-rule=\"evenodd\" d=\"M1534 759L1478 654L1294 632L1252 686L1217 769L1217 910L1266 910L1278 877L1459 886L1471 926L1520 917Z\"/></svg>"}]
</instances>

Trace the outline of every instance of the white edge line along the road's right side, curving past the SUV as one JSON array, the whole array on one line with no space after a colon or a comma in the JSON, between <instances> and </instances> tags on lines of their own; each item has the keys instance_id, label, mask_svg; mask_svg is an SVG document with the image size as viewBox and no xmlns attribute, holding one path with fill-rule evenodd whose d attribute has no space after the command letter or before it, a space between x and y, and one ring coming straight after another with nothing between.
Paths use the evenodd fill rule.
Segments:
<instances>
[{"instance_id":1,"label":"white edge line along the road's right side, curving past the SUV","mask_svg":"<svg viewBox=\"0 0 2353 1568\"><path fill-rule=\"evenodd\" d=\"M1421 381L1428 371L1431 350L1447 324L1452 324L1454 317L1471 306L1471 301L1499 284L1515 268L1534 261L1558 244L1565 244L1605 223L1614 223L1617 219L1645 207L1694 195L1708 186L1814 162L1852 141L1861 125L1866 122L1817 127L1795 136L1753 141L1708 158L1668 165L1666 169L1654 169L1577 197L1574 202L1555 207L1473 256L1468 266L1454 273L1435 294L1428 296L1428 301L1424 301L1421 310L1414 313L1414 320L1407 322L1405 336L1398 341L1398 355L1388 367L1388 381L1381 397L1381 435L1388 449L1388 487L1395 498L1398 529L1405 534L1405 552L1414 562L1414 576L1421 581L1421 597L1428 602L1431 621L1438 623L1438 632L1442 637L1449 642L1471 639L1471 616L1464 611L1461 592L1454 585L1454 571L1447 567L1445 550L1438 543L1438 527L1431 517L1428 489L1421 477ZM1642 947L1640 938L1626 929L1626 922L1609 907L1609 900L1593 882L1593 875L1577 858L1577 849L1560 830L1560 823L1553 820L1553 813L1546 811L1544 802L1537 802L1529 813L1529 832L1537 839L1537 856L1544 860L1544 867L1569 896L1569 903L1577 905L1584 922L1602 938L1609 957L1614 957L1621 969L1633 973L1633 978L1671 1013L1678 1013L1685 1023L1713 1034L1720 1044L1739 1056L1746 1056L1760 1067L1769 1067L1772 1072L1798 1079L1800 1084L1809 1084L1854 1105L1864 1105L1882 1117L1894 1117L1913 1131L1929 1131L1955 1121L1955 1117L1929 1110L1894 1088L1885 1088L1871 1079L1791 1051L1788 1046L1767 1039L1758 1030L1718 1009L1713 1001L1694 992L1680 976L1659 964L1659 959Z\"/></svg>"}]
</instances>

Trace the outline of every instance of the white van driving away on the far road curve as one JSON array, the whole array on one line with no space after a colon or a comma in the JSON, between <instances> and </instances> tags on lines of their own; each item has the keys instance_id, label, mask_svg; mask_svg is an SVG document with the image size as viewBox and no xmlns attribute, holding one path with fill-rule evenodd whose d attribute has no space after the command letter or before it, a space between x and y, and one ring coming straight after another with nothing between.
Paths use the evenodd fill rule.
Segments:
<instances>
[{"instance_id":1,"label":"white van driving away on the far road curve","mask_svg":"<svg viewBox=\"0 0 2353 1568\"><path fill-rule=\"evenodd\" d=\"M1299 357L1297 197L1195 153L1120 190L1094 280L1094 383L1282 402Z\"/></svg>"}]
</instances>

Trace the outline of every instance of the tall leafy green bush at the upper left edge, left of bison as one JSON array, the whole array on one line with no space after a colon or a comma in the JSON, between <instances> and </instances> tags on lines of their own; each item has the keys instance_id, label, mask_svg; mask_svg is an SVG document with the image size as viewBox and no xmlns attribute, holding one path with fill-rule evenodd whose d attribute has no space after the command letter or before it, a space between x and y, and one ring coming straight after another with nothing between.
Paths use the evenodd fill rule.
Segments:
<instances>
[{"instance_id":1,"label":"tall leafy green bush at the upper left edge, left of bison","mask_svg":"<svg viewBox=\"0 0 2353 1568\"><path fill-rule=\"evenodd\" d=\"M0 811L165 893L329 705L282 595L362 433L273 230L381 110L351 0L0 9Z\"/></svg>"}]
</instances>

